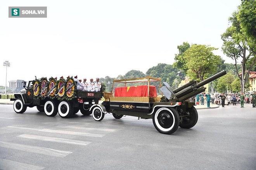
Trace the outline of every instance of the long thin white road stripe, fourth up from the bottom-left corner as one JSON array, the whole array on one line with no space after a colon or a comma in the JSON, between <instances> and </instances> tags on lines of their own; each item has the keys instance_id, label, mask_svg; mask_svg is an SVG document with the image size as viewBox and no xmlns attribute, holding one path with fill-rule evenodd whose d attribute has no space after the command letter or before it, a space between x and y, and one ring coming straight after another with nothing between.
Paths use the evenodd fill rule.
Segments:
<instances>
[{"instance_id":1,"label":"long thin white road stripe, fourth up from the bottom-left corner","mask_svg":"<svg viewBox=\"0 0 256 170\"><path fill-rule=\"evenodd\" d=\"M73 131L60 131L60 130L54 130L54 129L33 129L33 128L27 128L27 127L16 127L16 126L7 126L12 128L19 128L19 129L29 129L29 130L35 130L40 132L52 132L52 133L61 133L61 134L69 134L69 135L79 135L79 136L90 136L90 137L103 137L104 134L93 134L93 133L83 133L83 132L73 132Z\"/></svg>"}]
</instances>

